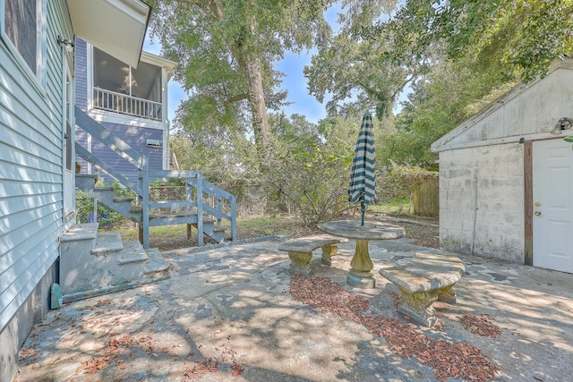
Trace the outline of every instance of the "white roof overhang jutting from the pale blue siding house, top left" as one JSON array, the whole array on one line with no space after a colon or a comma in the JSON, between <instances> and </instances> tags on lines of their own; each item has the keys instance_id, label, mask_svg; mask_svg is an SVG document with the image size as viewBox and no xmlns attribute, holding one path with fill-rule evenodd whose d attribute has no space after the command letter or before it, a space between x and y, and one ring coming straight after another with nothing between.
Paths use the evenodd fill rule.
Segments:
<instances>
[{"instance_id":1,"label":"white roof overhang jutting from the pale blue siding house, top left","mask_svg":"<svg viewBox=\"0 0 573 382\"><path fill-rule=\"evenodd\" d=\"M141 0L67 0L76 36L134 68L151 7Z\"/></svg>"}]
</instances>

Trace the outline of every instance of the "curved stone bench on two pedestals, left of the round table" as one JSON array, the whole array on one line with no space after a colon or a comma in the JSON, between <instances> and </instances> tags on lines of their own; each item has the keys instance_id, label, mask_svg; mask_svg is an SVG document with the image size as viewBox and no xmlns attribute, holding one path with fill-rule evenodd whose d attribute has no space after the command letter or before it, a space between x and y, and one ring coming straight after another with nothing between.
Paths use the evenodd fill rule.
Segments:
<instances>
[{"instance_id":1,"label":"curved stone bench on two pedestals, left of the round table","mask_svg":"<svg viewBox=\"0 0 573 382\"><path fill-rule=\"evenodd\" d=\"M329 234L300 237L283 242L278 250L288 252L290 270L295 273L308 275L311 272L312 250L322 248L322 264L331 265L331 258L338 252L338 244L348 242L348 239Z\"/></svg>"}]
</instances>

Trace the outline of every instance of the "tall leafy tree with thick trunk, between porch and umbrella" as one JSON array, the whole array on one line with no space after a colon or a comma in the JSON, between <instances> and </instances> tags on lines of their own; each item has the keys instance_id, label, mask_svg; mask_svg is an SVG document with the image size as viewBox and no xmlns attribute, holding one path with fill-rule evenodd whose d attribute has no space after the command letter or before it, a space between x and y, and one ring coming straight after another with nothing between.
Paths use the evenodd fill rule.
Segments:
<instances>
[{"instance_id":1,"label":"tall leafy tree with thick trunk, between porch and umbrella","mask_svg":"<svg viewBox=\"0 0 573 382\"><path fill-rule=\"evenodd\" d=\"M261 158L272 139L267 108L284 105L282 74L274 70L286 50L311 48L329 36L322 11L329 0L154 0L151 37L178 63L175 80L187 91L175 126L192 139L252 135Z\"/></svg>"}]
</instances>

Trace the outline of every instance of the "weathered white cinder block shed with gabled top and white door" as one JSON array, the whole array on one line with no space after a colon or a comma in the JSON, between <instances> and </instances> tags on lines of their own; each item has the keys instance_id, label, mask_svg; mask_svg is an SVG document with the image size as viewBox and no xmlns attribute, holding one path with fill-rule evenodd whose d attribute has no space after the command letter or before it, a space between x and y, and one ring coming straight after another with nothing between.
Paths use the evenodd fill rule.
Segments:
<instances>
[{"instance_id":1,"label":"weathered white cinder block shed with gabled top and white door","mask_svg":"<svg viewBox=\"0 0 573 382\"><path fill-rule=\"evenodd\" d=\"M573 273L573 59L436 140L440 246Z\"/></svg>"}]
</instances>

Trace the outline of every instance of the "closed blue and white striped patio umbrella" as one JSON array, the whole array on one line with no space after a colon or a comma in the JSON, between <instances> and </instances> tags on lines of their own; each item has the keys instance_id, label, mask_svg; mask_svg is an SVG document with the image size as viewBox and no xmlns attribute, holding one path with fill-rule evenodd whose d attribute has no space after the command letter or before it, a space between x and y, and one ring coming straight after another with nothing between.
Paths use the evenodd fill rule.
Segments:
<instances>
[{"instance_id":1,"label":"closed blue and white striped patio umbrella","mask_svg":"<svg viewBox=\"0 0 573 382\"><path fill-rule=\"evenodd\" d=\"M364 206L376 203L376 155L374 150L374 132L372 115L369 111L363 116L358 140L355 146L355 157L352 160L348 201L360 202L362 225L364 225Z\"/></svg>"}]
</instances>

